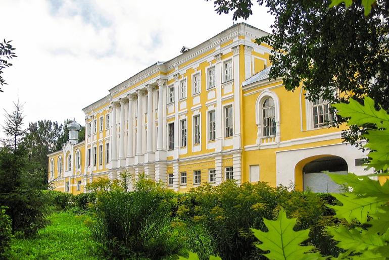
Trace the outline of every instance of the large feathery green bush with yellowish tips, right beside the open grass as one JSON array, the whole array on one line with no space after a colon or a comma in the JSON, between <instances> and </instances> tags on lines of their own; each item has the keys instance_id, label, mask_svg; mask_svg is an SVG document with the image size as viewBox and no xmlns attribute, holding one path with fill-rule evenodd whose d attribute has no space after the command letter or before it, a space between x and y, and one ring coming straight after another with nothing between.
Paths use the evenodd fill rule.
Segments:
<instances>
[{"instance_id":1,"label":"large feathery green bush with yellowish tips, right beside the open grass","mask_svg":"<svg viewBox=\"0 0 389 260\"><path fill-rule=\"evenodd\" d=\"M172 225L176 202L174 192L144 177L130 192L117 185L110 191L100 190L93 205L93 237L110 258L158 259L175 254L182 247Z\"/></svg>"}]
</instances>

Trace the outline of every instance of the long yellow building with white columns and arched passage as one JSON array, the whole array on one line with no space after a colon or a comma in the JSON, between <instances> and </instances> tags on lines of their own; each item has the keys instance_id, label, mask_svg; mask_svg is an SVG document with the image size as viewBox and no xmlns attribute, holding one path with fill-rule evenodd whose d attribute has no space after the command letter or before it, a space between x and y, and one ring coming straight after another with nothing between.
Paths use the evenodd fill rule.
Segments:
<instances>
[{"instance_id":1,"label":"long yellow building with white columns and arched passage","mask_svg":"<svg viewBox=\"0 0 389 260\"><path fill-rule=\"evenodd\" d=\"M48 155L49 180L72 193L123 171L176 191L226 179L333 191L321 171L363 174L366 154L328 127L325 100L269 81L270 46L254 43L265 35L235 24L111 88L83 109L85 141Z\"/></svg>"}]
</instances>

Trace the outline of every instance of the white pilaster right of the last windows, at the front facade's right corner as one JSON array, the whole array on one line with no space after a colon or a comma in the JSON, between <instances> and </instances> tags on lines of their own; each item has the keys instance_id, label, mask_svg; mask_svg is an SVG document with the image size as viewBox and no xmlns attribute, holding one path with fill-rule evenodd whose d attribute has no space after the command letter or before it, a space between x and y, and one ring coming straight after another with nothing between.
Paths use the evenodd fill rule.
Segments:
<instances>
[{"instance_id":1,"label":"white pilaster right of the last windows, at the front facade's right corner","mask_svg":"<svg viewBox=\"0 0 389 260\"><path fill-rule=\"evenodd\" d=\"M233 77L234 77L234 106L233 106L233 148L240 149L240 81L239 81L239 45L232 47Z\"/></svg>"}]
</instances>

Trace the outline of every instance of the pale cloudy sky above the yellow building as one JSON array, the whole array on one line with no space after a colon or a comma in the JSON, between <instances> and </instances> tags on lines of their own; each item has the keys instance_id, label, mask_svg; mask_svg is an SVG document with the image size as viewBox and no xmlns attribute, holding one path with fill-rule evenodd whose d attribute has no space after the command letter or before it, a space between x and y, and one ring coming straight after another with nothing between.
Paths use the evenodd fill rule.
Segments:
<instances>
[{"instance_id":1,"label":"pale cloudy sky above the yellow building","mask_svg":"<svg viewBox=\"0 0 389 260\"><path fill-rule=\"evenodd\" d=\"M271 32L274 19L253 2L245 22ZM213 0L2 0L0 10L0 40L13 40L18 56L2 74L0 124L19 95L26 127L67 118L84 125L82 109L109 89L233 24Z\"/></svg>"}]
</instances>

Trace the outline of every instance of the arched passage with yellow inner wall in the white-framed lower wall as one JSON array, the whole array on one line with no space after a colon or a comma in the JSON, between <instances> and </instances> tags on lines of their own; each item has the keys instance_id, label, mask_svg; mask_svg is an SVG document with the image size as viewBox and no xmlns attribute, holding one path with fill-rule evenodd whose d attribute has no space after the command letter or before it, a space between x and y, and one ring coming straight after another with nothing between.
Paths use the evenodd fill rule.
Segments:
<instances>
[{"instance_id":1,"label":"arched passage with yellow inner wall in the white-framed lower wall","mask_svg":"<svg viewBox=\"0 0 389 260\"><path fill-rule=\"evenodd\" d=\"M295 167L296 189L310 189L313 192L338 192L339 185L334 183L323 171L347 174L348 166L343 158L330 154L306 158Z\"/></svg>"}]
</instances>

